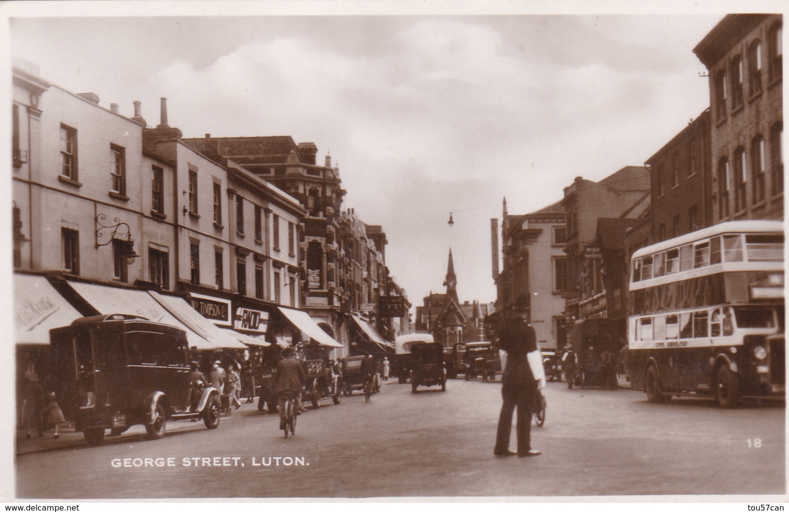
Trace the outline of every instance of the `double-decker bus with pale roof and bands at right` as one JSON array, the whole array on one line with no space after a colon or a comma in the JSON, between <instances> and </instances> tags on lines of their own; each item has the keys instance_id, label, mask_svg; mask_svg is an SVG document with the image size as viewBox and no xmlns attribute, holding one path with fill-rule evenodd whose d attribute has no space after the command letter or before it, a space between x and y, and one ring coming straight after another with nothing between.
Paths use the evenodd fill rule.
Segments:
<instances>
[{"instance_id":1,"label":"double-decker bus with pale roof and bands at right","mask_svg":"<svg viewBox=\"0 0 789 512\"><path fill-rule=\"evenodd\" d=\"M722 222L634 252L627 366L649 402L783 397L783 222Z\"/></svg>"}]
</instances>

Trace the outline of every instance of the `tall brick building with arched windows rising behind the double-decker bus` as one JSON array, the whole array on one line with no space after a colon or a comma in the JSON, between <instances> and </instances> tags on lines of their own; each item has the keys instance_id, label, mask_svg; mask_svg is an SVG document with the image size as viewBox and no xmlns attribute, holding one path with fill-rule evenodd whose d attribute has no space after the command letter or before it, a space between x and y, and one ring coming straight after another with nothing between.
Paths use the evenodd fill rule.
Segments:
<instances>
[{"instance_id":1,"label":"tall brick building with arched windows rising behind the double-decker bus","mask_svg":"<svg viewBox=\"0 0 789 512\"><path fill-rule=\"evenodd\" d=\"M694 48L709 70L712 223L783 219L783 17L729 14Z\"/></svg>"}]
</instances>

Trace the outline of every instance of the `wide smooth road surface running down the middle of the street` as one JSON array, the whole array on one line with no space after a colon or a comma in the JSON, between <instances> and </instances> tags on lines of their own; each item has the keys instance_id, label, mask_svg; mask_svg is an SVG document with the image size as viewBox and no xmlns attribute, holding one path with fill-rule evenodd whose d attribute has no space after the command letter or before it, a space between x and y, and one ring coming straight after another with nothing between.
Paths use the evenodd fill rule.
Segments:
<instances>
[{"instance_id":1,"label":"wide smooth road surface running down the middle of the street","mask_svg":"<svg viewBox=\"0 0 789 512\"><path fill-rule=\"evenodd\" d=\"M494 458L500 383L450 380L446 392L432 387L412 394L410 389L390 381L369 403L361 394L343 398L340 405L323 401L320 409L298 418L297 435L288 439L282 437L275 415L244 405L214 431L202 423L171 422L171 430L157 441L110 440L101 447L20 455L17 497L786 491L783 403L724 410L710 401L675 398L669 405L656 405L638 391L568 390L564 383L548 383L547 420L544 427L532 428L533 447L542 450L542 456ZM161 458L165 465L113 466L114 459L124 458L151 458L154 463ZM168 458L173 465L166 465ZM189 465L184 465L185 458Z\"/></svg>"}]
</instances>

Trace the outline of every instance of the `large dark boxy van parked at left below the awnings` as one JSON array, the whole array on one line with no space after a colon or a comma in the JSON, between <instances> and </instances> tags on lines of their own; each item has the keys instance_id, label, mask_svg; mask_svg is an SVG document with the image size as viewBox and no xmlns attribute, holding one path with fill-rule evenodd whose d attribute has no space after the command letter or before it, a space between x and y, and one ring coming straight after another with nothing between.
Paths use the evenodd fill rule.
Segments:
<instances>
[{"instance_id":1,"label":"large dark boxy van parked at left below the awnings","mask_svg":"<svg viewBox=\"0 0 789 512\"><path fill-rule=\"evenodd\" d=\"M107 428L120 434L145 425L150 439L163 437L168 420L201 418L219 426L219 392L189 383L189 346L177 327L141 316L100 315L50 331L59 361L56 398L88 444Z\"/></svg>"}]
</instances>

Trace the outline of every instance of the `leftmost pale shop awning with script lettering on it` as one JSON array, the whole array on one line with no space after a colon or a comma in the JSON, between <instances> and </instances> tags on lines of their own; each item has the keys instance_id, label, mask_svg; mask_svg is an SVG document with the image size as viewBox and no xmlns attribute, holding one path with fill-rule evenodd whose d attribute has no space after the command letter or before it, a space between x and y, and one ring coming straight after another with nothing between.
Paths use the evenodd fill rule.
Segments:
<instances>
[{"instance_id":1,"label":"leftmost pale shop awning with script lettering on it","mask_svg":"<svg viewBox=\"0 0 789 512\"><path fill-rule=\"evenodd\" d=\"M17 345L49 345L49 330L81 318L42 275L13 275L13 322Z\"/></svg>"}]
</instances>

